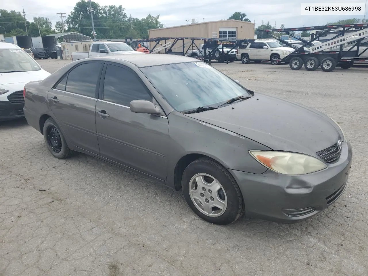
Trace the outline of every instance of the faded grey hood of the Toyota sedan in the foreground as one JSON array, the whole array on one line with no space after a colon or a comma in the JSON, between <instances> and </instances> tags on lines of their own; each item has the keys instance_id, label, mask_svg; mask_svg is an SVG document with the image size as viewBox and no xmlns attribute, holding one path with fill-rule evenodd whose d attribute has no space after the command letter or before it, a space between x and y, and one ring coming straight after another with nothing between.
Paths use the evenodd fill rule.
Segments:
<instances>
[{"instance_id":1,"label":"faded grey hood of the Toyota sedan in the foreground","mask_svg":"<svg viewBox=\"0 0 368 276\"><path fill-rule=\"evenodd\" d=\"M233 105L185 115L278 151L315 156L340 137L339 127L323 113L258 93Z\"/></svg>"}]
</instances>

